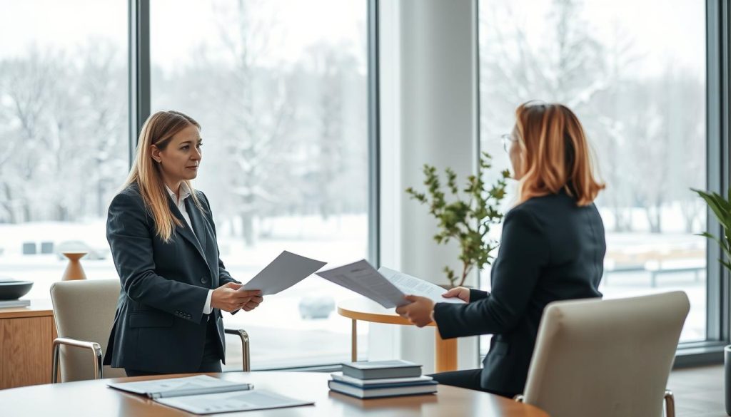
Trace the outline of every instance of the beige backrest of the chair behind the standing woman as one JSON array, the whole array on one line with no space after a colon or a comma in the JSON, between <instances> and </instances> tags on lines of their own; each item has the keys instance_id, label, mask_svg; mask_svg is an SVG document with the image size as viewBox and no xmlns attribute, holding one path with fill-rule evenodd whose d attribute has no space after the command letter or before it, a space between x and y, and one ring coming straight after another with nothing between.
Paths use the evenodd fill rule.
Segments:
<instances>
[{"instance_id":1,"label":"beige backrest of the chair behind the standing woman","mask_svg":"<svg viewBox=\"0 0 731 417\"><path fill-rule=\"evenodd\" d=\"M119 280L73 280L53 283L50 299L58 337L96 342L107 351L119 298ZM50 352L49 352L50 354ZM94 378L94 356L86 349L61 346L61 380ZM124 377L124 370L105 366L104 378Z\"/></svg>"}]
</instances>

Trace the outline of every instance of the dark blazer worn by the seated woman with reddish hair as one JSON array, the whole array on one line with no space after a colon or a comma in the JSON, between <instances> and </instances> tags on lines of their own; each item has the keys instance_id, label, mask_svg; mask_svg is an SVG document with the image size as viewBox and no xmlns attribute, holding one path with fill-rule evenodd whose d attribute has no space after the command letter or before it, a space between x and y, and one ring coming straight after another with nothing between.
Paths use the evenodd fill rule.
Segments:
<instances>
[{"instance_id":1,"label":"dark blazer worn by the seated woman with reddish hair","mask_svg":"<svg viewBox=\"0 0 731 417\"><path fill-rule=\"evenodd\" d=\"M494 334L482 361L483 389L520 394L549 302L602 297L607 250L594 204L578 207L561 192L523 202L505 216L492 293L471 290L470 303L437 303L434 321L443 338Z\"/></svg>"}]
</instances>

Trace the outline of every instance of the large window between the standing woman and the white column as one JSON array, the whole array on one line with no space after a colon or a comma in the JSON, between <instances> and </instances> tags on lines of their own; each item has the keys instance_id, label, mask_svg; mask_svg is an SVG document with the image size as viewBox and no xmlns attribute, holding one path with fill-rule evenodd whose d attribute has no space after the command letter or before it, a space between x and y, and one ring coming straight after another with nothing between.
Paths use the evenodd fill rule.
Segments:
<instances>
[{"instance_id":1,"label":"large window between the standing woman and the white column","mask_svg":"<svg viewBox=\"0 0 731 417\"><path fill-rule=\"evenodd\" d=\"M281 250L366 258L366 1L155 0L150 15L151 109L202 125L195 186L232 275L246 282ZM249 332L254 369L333 364L351 340L335 305L354 296L312 276L224 321Z\"/></svg>"}]
</instances>

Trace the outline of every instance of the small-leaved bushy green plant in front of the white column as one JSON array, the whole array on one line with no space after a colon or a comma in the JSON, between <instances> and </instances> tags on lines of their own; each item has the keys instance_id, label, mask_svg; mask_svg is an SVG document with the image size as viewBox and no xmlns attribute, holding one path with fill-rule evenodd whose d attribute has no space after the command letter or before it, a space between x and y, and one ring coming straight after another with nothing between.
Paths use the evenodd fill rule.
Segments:
<instances>
[{"instance_id":1,"label":"small-leaved bushy green plant in front of the white column","mask_svg":"<svg viewBox=\"0 0 731 417\"><path fill-rule=\"evenodd\" d=\"M406 188L406 193L412 199L429 206L429 213L439 223L439 232L434 235L434 240L446 244L454 239L459 244L461 275L458 276L449 266L444 267L452 287L463 286L472 268L482 269L486 264L491 264L491 252L498 246L496 240L488 238L488 232L493 224L500 223L503 218L499 205L505 196L506 179L510 177L510 172L507 169L502 171L501 177L486 190L482 177L491 169L491 159L488 153L482 153L479 175L467 177L467 185L461 190L452 169L444 169L447 175L444 190L436 168L428 164L424 164L423 169L426 193L415 191L412 187ZM449 202L446 193L450 193Z\"/></svg>"}]
</instances>

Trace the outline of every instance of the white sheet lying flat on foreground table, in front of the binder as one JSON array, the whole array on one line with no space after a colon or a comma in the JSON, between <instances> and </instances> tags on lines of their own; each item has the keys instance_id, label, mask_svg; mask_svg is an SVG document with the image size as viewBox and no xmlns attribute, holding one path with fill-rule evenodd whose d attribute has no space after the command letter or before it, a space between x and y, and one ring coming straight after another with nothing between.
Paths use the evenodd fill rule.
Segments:
<instances>
[{"instance_id":1,"label":"white sheet lying flat on foreground table, in front of the binder","mask_svg":"<svg viewBox=\"0 0 731 417\"><path fill-rule=\"evenodd\" d=\"M224 394L194 395L156 399L160 404L186 410L195 414L227 413L230 411L265 410L268 408L311 405L313 401L284 397L262 389L254 391L227 392Z\"/></svg>"}]
</instances>

